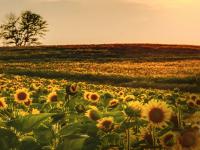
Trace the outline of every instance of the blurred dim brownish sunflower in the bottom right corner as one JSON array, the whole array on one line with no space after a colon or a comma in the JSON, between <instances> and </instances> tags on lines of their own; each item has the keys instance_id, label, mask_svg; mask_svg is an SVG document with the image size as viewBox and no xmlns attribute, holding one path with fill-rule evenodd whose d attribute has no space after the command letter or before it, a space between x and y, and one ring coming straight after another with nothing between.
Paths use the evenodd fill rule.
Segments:
<instances>
[{"instance_id":1,"label":"blurred dim brownish sunflower in the bottom right corner","mask_svg":"<svg viewBox=\"0 0 200 150\"><path fill-rule=\"evenodd\" d=\"M200 133L196 129L186 129L178 137L177 149L199 150Z\"/></svg>"}]
</instances>

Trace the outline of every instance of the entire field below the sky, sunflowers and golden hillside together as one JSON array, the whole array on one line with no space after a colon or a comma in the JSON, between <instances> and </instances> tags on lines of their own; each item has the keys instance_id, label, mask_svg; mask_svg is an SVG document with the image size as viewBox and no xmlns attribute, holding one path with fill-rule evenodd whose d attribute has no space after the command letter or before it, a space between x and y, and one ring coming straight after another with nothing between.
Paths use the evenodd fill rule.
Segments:
<instances>
[{"instance_id":1,"label":"entire field below the sky, sunflowers and golden hillside together","mask_svg":"<svg viewBox=\"0 0 200 150\"><path fill-rule=\"evenodd\" d=\"M200 47L0 48L0 149L200 147Z\"/></svg>"}]
</instances>

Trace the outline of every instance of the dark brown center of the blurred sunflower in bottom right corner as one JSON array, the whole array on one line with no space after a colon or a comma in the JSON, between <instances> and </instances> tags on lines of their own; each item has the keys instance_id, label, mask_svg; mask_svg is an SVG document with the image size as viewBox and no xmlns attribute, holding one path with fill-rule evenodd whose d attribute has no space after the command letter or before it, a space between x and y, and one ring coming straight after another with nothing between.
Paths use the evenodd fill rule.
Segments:
<instances>
[{"instance_id":1,"label":"dark brown center of the blurred sunflower in bottom right corner","mask_svg":"<svg viewBox=\"0 0 200 150\"><path fill-rule=\"evenodd\" d=\"M186 132L182 135L180 142L181 142L181 145L183 147L188 148L188 147L191 147L195 144L195 140L196 140L196 138L195 138L195 135L193 133Z\"/></svg>"}]
</instances>

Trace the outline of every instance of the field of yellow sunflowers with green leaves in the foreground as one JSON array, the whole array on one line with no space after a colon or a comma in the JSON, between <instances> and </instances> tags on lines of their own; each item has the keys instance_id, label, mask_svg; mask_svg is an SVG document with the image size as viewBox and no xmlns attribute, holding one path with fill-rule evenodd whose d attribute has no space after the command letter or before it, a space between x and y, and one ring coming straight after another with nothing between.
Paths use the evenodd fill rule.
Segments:
<instances>
[{"instance_id":1,"label":"field of yellow sunflowers with green leaves in the foreground","mask_svg":"<svg viewBox=\"0 0 200 150\"><path fill-rule=\"evenodd\" d=\"M0 75L1 150L199 150L200 95Z\"/></svg>"}]
</instances>

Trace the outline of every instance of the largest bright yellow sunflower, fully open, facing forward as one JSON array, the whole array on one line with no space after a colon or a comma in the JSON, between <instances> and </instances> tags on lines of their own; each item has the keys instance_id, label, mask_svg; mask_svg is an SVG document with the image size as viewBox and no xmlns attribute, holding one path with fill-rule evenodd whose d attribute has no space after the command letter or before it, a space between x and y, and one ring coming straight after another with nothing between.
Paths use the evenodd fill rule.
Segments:
<instances>
[{"instance_id":1,"label":"largest bright yellow sunflower, fully open, facing forward","mask_svg":"<svg viewBox=\"0 0 200 150\"><path fill-rule=\"evenodd\" d=\"M143 109L143 116L154 127L162 127L171 119L172 110L166 102L151 100Z\"/></svg>"}]
</instances>

